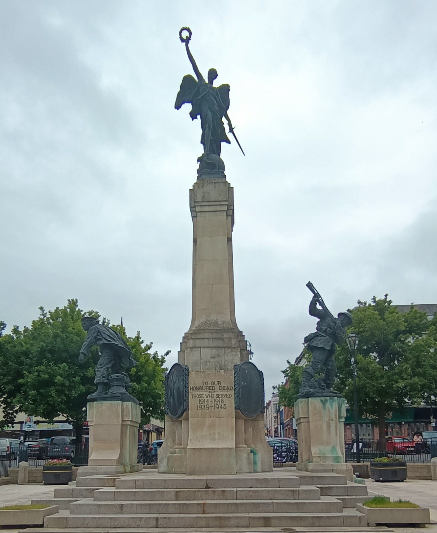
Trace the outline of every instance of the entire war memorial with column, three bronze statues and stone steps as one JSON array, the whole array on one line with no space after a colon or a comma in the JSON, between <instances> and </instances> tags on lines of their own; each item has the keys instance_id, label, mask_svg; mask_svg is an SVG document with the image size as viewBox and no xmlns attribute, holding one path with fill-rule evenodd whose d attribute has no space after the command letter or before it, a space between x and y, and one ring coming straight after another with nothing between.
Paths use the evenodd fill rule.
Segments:
<instances>
[{"instance_id":1,"label":"entire war memorial with column, three bronze statues and stone steps","mask_svg":"<svg viewBox=\"0 0 437 533\"><path fill-rule=\"evenodd\" d=\"M90 458L70 486L55 488L50 500L36 500L60 508L45 518L44 527L362 530L367 518L355 505L367 498L367 488L353 482L345 462L345 400L332 389L332 356L350 317L339 313L335 318L309 284L310 314L319 321L305 338L313 361L295 405L299 461L296 467L273 469L264 435L263 374L249 361L234 305L234 192L221 158L228 134L240 147L228 116L229 85L214 86L215 69L209 69L207 79L201 74L190 51L189 28L181 29L180 40L196 77L184 76L175 108L191 104L190 117L200 117L203 154L189 195L191 324L178 362L165 378L165 439L158 467L137 464L140 406L128 393L132 353L116 332L87 317L80 357L92 345L100 351L98 390L87 406ZM322 369L325 377L318 379Z\"/></svg>"}]
</instances>

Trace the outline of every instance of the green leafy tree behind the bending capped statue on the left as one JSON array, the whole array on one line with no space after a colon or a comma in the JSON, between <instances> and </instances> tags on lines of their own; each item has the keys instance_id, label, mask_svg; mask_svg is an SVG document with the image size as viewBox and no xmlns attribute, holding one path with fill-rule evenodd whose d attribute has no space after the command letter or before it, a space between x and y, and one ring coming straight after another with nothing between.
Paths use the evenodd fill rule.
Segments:
<instances>
[{"instance_id":1,"label":"green leafy tree behind the bending capped statue on the left","mask_svg":"<svg viewBox=\"0 0 437 533\"><path fill-rule=\"evenodd\" d=\"M96 348L84 364L78 362L80 346L85 339L81 324L84 312L77 300L68 300L64 308L46 312L39 309L39 317L30 328L22 331L14 326L10 334L0 327L0 404L3 407L3 425L13 423L18 411L53 421L63 415L76 430L76 439L82 439L86 419L87 395L95 390L94 369L98 361ZM88 315L99 318L95 311ZM108 324L103 318L102 322ZM159 417L163 405L162 365L165 356L150 355L149 345L143 345L140 333L126 337L123 326L114 326L125 336L139 361L132 373L132 392L140 401L143 418ZM147 386L143 386L143 382Z\"/></svg>"}]
</instances>

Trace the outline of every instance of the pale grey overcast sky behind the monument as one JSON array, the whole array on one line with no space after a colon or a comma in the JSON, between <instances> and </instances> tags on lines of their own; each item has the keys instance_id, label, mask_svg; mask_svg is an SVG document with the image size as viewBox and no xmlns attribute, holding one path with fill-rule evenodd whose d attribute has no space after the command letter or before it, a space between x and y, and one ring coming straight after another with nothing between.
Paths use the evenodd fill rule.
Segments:
<instances>
[{"instance_id":1,"label":"pale grey overcast sky behind the monument","mask_svg":"<svg viewBox=\"0 0 437 533\"><path fill-rule=\"evenodd\" d=\"M78 298L176 361L191 320L192 74L231 87L236 313L266 399L331 311L436 303L437 3L0 2L0 319Z\"/></svg>"}]
</instances>

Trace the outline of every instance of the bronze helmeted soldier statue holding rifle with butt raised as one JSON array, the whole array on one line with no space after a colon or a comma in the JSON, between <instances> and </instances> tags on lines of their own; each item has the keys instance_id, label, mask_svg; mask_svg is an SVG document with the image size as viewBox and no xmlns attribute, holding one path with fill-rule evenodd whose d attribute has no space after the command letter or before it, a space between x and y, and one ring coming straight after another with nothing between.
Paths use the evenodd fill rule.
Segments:
<instances>
[{"instance_id":1,"label":"bronze helmeted soldier statue holding rifle with butt raised","mask_svg":"<svg viewBox=\"0 0 437 533\"><path fill-rule=\"evenodd\" d=\"M298 397L341 396L339 392L331 389L337 373L334 360L335 345L342 344L344 341L345 329L352 325L352 316L344 311L338 313L337 318L335 318L311 281L307 282L306 286L313 293L309 313L312 317L318 318L319 321L315 327L315 332L304 338L304 344L312 352L313 357L310 365L303 371ZM321 309L318 308L317 304L320 305ZM323 379L314 379L322 367L325 368L325 376Z\"/></svg>"}]
</instances>

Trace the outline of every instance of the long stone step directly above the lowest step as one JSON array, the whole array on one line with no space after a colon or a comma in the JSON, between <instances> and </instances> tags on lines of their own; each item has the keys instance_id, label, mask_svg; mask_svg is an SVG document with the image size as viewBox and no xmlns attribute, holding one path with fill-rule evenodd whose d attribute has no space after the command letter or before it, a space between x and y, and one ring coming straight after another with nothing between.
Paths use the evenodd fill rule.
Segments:
<instances>
[{"instance_id":1,"label":"long stone step directly above the lowest step","mask_svg":"<svg viewBox=\"0 0 437 533\"><path fill-rule=\"evenodd\" d=\"M317 500L204 500L162 502L95 502L79 500L70 514L235 514L235 513L341 513L342 502L332 497Z\"/></svg>"}]
</instances>

